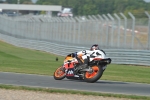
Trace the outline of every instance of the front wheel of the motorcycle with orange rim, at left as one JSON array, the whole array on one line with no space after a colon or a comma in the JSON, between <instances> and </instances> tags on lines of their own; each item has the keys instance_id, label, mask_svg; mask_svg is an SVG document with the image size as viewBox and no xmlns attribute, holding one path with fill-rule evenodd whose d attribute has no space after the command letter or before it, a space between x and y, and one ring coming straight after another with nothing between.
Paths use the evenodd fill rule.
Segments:
<instances>
[{"instance_id":1,"label":"front wheel of the motorcycle with orange rim, at left","mask_svg":"<svg viewBox=\"0 0 150 100\"><path fill-rule=\"evenodd\" d=\"M55 80L62 80L65 78L65 76L66 76L65 70L62 66L57 68L54 72L54 79Z\"/></svg>"}]
</instances>

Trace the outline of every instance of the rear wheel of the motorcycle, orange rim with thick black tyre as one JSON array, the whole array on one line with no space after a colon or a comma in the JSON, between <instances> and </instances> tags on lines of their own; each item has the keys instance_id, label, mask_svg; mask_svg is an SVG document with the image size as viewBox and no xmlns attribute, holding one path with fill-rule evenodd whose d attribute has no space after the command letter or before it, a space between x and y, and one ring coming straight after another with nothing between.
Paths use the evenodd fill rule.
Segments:
<instances>
[{"instance_id":1,"label":"rear wheel of the motorcycle, orange rim with thick black tyre","mask_svg":"<svg viewBox=\"0 0 150 100\"><path fill-rule=\"evenodd\" d=\"M91 68L93 70L92 72L87 71L84 73L84 80L89 83L94 83L101 78L103 69L101 66L97 65L94 65Z\"/></svg>"}]
</instances>

